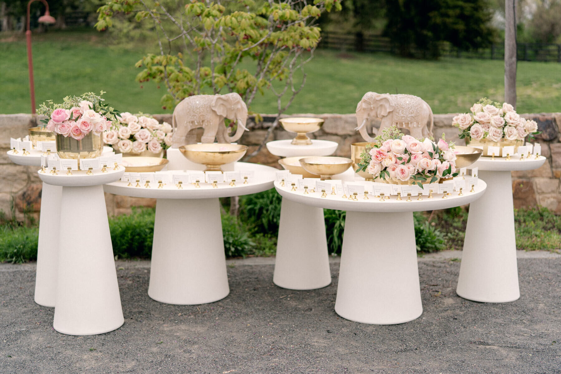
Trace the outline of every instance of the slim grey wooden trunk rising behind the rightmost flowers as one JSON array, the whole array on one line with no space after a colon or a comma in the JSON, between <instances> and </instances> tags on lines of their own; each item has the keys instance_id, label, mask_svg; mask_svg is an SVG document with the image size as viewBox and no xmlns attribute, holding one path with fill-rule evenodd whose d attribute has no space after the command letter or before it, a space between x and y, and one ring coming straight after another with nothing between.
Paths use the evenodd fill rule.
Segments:
<instances>
[{"instance_id":1,"label":"slim grey wooden trunk rising behind the rightmost flowers","mask_svg":"<svg viewBox=\"0 0 561 374\"><path fill-rule=\"evenodd\" d=\"M504 101L516 108L516 0L504 5Z\"/></svg>"}]
</instances>

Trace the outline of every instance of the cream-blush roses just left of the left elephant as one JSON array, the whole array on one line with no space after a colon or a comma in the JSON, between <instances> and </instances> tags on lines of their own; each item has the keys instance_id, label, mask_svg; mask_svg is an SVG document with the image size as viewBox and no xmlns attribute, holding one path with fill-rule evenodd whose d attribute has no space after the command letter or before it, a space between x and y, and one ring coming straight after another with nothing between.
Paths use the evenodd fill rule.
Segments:
<instances>
[{"instance_id":1,"label":"cream-blush roses just left of the left elephant","mask_svg":"<svg viewBox=\"0 0 561 374\"><path fill-rule=\"evenodd\" d=\"M172 144L172 126L159 123L150 114L121 113L112 130L103 133L103 141L123 154L163 156Z\"/></svg>"}]
</instances>

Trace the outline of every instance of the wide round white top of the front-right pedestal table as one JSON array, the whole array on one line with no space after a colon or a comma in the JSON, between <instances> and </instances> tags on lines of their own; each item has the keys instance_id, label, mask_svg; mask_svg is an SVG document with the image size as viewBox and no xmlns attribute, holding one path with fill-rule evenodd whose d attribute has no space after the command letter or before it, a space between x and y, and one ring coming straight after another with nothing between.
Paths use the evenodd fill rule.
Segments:
<instances>
[{"instance_id":1,"label":"wide round white top of the front-right pedestal table","mask_svg":"<svg viewBox=\"0 0 561 374\"><path fill-rule=\"evenodd\" d=\"M442 193L433 193L433 198L422 196L422 200L417 200L417 196L411 196L412 201L406 201L407 197L402 200L396 200L397 196L390 196L389 200L380 201L379 197L368 195L369 200L364 200L364 195L357 196L358 201L342 198L342 195L331 195L327 192L327 197L321 197L321 192L311 192L304 195L302 190L290 191L290 187L280 187L278 182L274 183L277 192L283 198L301 204L316 206L326 209L351 210L364 212L383 212L398 213L408 211L425 211L435 209L447 209L454 206L469 204L481 197L487 188L487 184L479 179L475 192L463 192L463 196L458 196L458 192L451 192L452 195L442 198Z\"/></svg>"}]
</instances>

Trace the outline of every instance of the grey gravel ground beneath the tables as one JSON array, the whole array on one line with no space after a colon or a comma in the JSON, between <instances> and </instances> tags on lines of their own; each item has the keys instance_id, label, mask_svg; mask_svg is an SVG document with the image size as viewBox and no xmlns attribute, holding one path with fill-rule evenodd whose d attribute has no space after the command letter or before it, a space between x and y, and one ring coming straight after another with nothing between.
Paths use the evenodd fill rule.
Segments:
<instances>
[{"instance_id":1,"label":"grey gravel ground beneath the tables","mask_svg":"<svg viewBox=\"0 0 561 374\"><path fill-rule=\"evenodd\" d=\"M458 297L453 260L419 261L424 312L392 326L335 314L337 261L312 291L234 261L228 297L200 306L153 301L149 263L119 262L125 324L94 336L54 331L34 266L0 264L0 373L561 373L561 256L520 258L522 296L505 304Z\"/></svg>"}]
</instances>

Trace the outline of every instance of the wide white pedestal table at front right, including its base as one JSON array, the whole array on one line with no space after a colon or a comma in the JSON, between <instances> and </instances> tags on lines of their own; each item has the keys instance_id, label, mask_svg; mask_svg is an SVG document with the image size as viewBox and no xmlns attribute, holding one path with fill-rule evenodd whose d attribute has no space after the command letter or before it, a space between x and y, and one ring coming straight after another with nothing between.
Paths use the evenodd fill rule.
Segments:
<instances>
[{"instance_id":1,"label":"wide white pedestal table at front right, including its base","mask_svg":"<svg viewBox=\"0 0 561 374\"><path fill-rule=\"evenodd\" d=\"M357 201L341 195L304 195L275 182L284 200L327 209L346 210L341 267L335 312L347 320L365 324L393 325L408 322L422 313L413 211L445 209L468 204L481 197L485 182L475 192L458 196L435 194L433 198L401 201L392 196L380 201L373 195Z\"/></svg>"}]
</instances>

